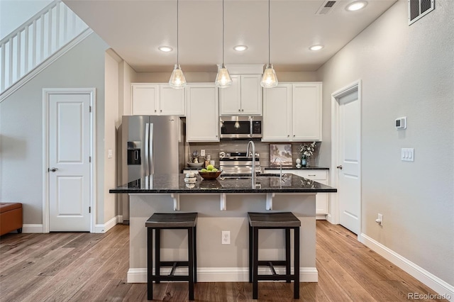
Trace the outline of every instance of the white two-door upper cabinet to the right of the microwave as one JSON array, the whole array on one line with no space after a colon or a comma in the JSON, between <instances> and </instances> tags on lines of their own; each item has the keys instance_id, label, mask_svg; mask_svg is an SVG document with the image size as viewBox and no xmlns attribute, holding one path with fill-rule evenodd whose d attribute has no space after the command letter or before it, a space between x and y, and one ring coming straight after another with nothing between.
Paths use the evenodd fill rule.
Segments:
<instances>
[{"instance_id":1,"label":"white two-door upper cabinet to the right of the microwave","mask_svg":"<svg viewBox=\"0 0 454 302\"><path fill-rule=\"evenodd\" d=\"M262 141L321 140L321 82L263 89Z\"/></svg>"}]
</instances>

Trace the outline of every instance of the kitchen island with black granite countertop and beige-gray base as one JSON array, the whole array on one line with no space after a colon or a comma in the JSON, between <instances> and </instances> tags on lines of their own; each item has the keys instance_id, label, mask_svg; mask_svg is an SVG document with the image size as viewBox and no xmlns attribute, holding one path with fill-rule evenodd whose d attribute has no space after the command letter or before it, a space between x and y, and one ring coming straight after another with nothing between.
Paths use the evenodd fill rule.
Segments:
<instances>
[{"instance_id":1,"label":"kitchen island with black granite countertop and beige-gray base","mask_svg":"<svg viewBox=\"0 0 454 302\"><path fill-rule=\"evenodd\" d=\"M291 211L301 220L300 280L317 281L317 193L336 189L294 174L259 176L256 185L248 177L218 177L187 184L184 174L154 174L137 179L110 193L130 195L130 255L128 283L147 281L145 221L153 213L197 212L197 280L248 281L248 212ZM229 231L230 245L223 245L221 232ZM260 231L259 257L282 259L282 230ZM165 230L162 258L186 259L184 230ZM277 270L279 272L279 270Z\"/></svg>"}]
</instances>

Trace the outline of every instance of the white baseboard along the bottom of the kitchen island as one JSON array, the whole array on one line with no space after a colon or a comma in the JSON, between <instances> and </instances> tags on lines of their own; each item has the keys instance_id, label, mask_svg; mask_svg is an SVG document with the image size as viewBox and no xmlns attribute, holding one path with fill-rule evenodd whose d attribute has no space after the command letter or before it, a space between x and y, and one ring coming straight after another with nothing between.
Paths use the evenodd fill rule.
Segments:
<instances>
[{"instance_id":1,"label":"white baseboard along the bottom of the kitchen island","mask_svg":"<svg viewBox=\"0 0 454 302\"><path fill-rule=\"evenodd\" d=\"M276 267L276 272L282 274L283 269ZM168 274L166 269L162 269L163 274ZM260 274L266 274L269 269L259 269ZM187 274L187 269L178 270L178 274ZM318 282L319 272L316 267L301 267L299 269L299 280L301 282ZM197 268L198 282L248 282L249 268L248 267L198 267ZM147 269L129 269L128 283L147 283Z\"/></svg>"}]
</instances>

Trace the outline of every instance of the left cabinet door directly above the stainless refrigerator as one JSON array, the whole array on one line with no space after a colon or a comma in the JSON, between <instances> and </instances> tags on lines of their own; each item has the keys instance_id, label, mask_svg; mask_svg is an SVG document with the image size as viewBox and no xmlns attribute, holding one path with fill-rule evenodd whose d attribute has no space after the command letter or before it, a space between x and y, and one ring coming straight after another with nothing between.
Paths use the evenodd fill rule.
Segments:
<instances>
[{"instance_id":1,"label":"left cabinet door directly above the stainless refrigerator","mask_svg":"<svg viewBox=\"0 0 454 302\"><path fill-rule=\"evenodd\" d=\"M154 84L133 84L131 112L133 116L159 114L159 86Z\"/></svg>"}]
</instances>

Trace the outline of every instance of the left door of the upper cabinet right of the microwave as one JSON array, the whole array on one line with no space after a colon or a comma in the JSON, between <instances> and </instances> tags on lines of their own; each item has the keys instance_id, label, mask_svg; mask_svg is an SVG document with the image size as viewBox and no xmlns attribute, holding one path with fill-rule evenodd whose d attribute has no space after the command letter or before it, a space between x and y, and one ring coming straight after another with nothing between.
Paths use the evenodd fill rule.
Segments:
<instances>
[{"instance_id":1,"label":"left door of the upper cabinet right of the microwave","mask_svg":"<svg viewBox=\"0 0 454 302\"><path fill-rule=\"evenodd\" d=\"M292 85L263 89L262 141L289 141L292 121Z\"/></svg>"}]
</instances>

